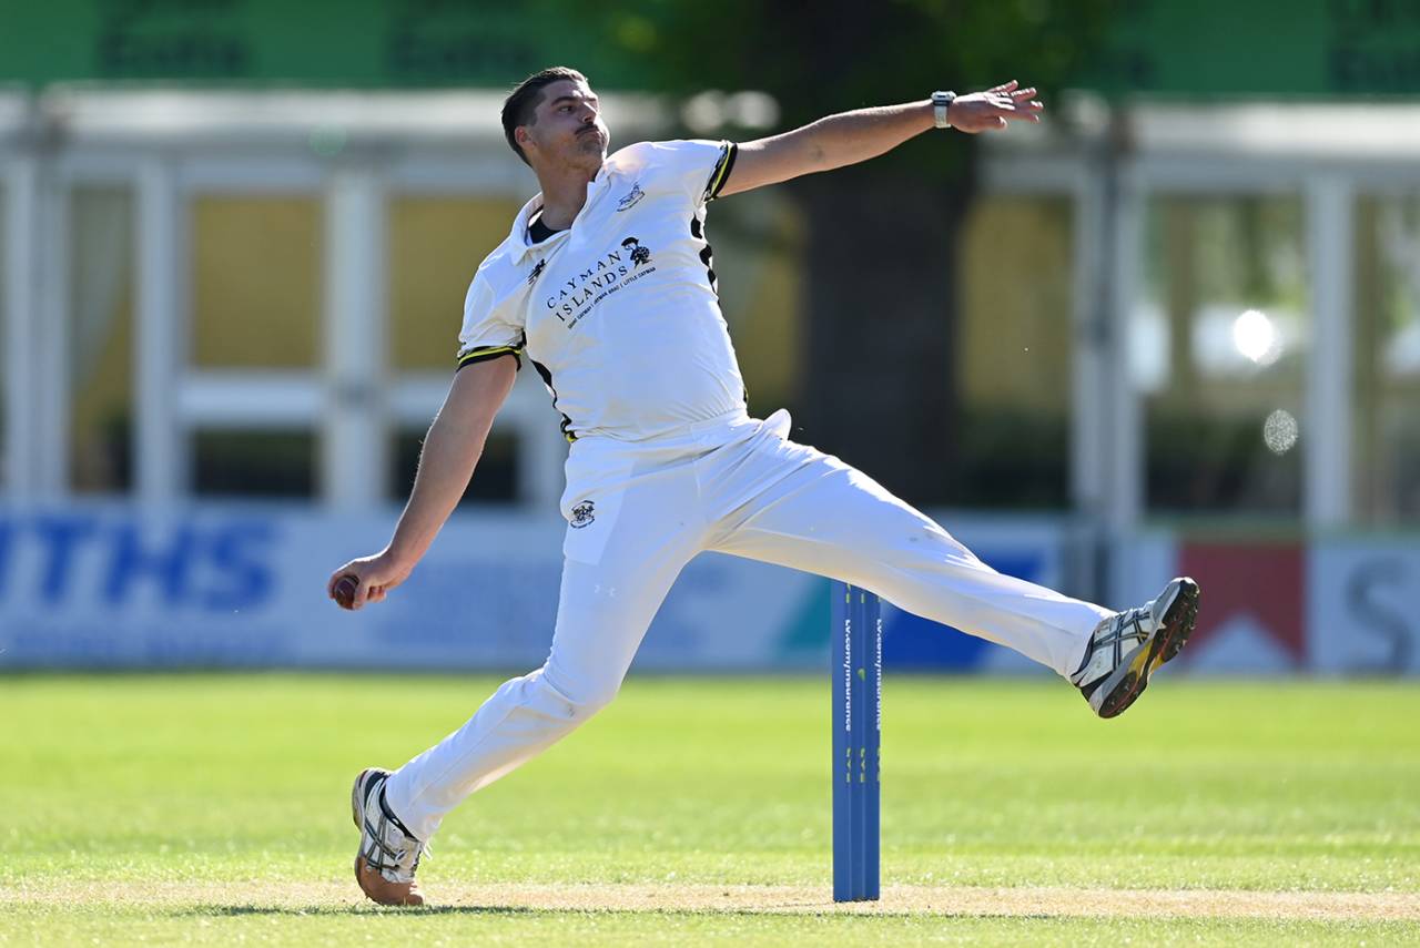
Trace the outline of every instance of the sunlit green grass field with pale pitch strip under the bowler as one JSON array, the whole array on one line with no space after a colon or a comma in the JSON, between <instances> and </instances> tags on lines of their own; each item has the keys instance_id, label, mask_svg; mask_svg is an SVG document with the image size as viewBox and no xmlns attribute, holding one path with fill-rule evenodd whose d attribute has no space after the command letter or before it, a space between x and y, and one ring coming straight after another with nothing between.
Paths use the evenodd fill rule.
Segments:
<instances>
[{"instance_id":1,"label":"sunlit green grass field with pale pitch strip under the bowler","mask_svg":"<svg viewBox=\"0 0 1420 948\"><path fill-rule=\"evenodd\" d=\"M1420 688L893 678L829 901L828 681L633 677L362 903L349 783L493 678L0 677L0 944L1420 944Z\"/></svg>"}]
</instances>

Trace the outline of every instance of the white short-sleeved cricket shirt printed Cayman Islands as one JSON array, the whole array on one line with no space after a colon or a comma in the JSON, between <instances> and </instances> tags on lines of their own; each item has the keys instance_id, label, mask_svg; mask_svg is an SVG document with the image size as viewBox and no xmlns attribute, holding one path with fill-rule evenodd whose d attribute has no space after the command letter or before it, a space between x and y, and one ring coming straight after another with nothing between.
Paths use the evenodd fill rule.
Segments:
<instances>
[{"instance_id":1,"label":"white short-sleeved cricket shirt printed Cayman Islands","mask_svg":"<svg viewBox=\"0 0 1420 948\"><path fill-rule=\"evenodd\" d=\"M706 204L734 165L731 142L642 142L611 155L572 226L530 244L518 213L463 304L459 368L527 355L569 440L638 441L744 412L720 314Z\"/></svg>"}]
</instances>

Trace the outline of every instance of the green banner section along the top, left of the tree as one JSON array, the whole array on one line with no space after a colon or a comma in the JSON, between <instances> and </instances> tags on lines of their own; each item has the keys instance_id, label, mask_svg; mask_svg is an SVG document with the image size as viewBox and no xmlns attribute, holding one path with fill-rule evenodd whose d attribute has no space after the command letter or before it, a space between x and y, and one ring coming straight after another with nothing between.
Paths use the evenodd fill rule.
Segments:
<instances>
[{"instance_id":1,"label":"green banner section along the top, left of the tree","mask_svg":"<svg viewBox=\"0 0 1420 948\"><path fill-rule=\"evenodd\" d=\"M558 0L4 0L3 7L0 81L28 85L501 87L557 62L581 64L604 85L635 85L635 71L615 51L579 41L578 21L598 14Z\"/></svg>"}]
</instances>

